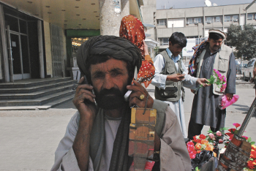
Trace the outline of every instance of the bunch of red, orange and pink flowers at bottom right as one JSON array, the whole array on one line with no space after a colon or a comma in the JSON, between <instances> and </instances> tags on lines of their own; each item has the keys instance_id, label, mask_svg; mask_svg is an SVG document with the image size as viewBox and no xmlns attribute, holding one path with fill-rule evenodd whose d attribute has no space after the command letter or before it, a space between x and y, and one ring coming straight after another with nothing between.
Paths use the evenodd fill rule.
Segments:
<instances>
[{"instance_id":1,"label":"bunch of red, orange and pink flowers at bottom right","mask_svg":"<svg viewBox=\"0 0 256 171\"><path fill-rule=\"evenodd\" d=\"M199 171L203 164L206 164L210 159L219 159L222 157L222 153L225 152L226 146L232 140L233 135L238 132L238 128L241 126L239 123L233 123L236 128L227 129L222 128L220 131L212 132L208 131L208 135L200 134L193 137L193 140L187 142L187 150L189 151L189 157L191 159L192 170ZM222 132L228 131L225 134ZM251 138L243 136L244 140L250 142L252 145L251 156L247 161L247 165L244 171L256 171L256 146L255 142L252 142ZM219 144L224 144L225 147L219 149ZM222 146L224 146L222 145ZM214 161L214 160L213 160ZM217 160L215 160L216 162ZM217 162L215 163L217 164Z\"/></svg>"}]
</instances>

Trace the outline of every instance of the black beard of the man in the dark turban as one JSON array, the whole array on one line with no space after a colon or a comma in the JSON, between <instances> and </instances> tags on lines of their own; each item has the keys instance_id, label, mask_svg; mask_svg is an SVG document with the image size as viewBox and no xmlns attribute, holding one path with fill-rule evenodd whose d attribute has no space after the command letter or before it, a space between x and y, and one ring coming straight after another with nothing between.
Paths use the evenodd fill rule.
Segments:
<instances>
[{"instance_id":1,"label":"black beard of the man in the dark turban","mask_svg":"<svg viewBox=\"0 0 256 171\"><path fill-rule=\"evenodd\" d=\"M113 110L121 107L124 101L124 93L118 88L103 89L102 91L95 91L95 100L97 105L104 110Z\"/></svg>"}]
</instances>

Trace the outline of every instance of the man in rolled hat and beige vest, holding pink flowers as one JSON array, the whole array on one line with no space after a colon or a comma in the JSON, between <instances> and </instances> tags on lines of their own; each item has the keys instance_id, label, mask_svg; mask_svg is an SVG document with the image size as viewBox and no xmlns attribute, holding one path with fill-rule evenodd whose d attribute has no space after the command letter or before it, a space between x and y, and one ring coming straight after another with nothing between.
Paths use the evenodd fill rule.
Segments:
<instances>
[{"instance_id":1,"label":"man in rolled hat and beige vest, holding pink flowers","mask_svg":"<svg viewBox=\"0 0 256 171\"><path fill-rule=\"evenodd\" d=\"M195 94L191 118L189 121L188 138L193 139L201 133L203 125L211 126L211 131L217 132L225 126L226 110L218 107L219 96L225 94L232 99L236 94L236 64L232 49L224 45L226 34L218 29L210 29L209 37L198 48L195 58L189 62L189 74L194 77L209 79L213 70L217 69L227 79L225 91L213 84L200 88Z\"/></svg>"}]
</instances>

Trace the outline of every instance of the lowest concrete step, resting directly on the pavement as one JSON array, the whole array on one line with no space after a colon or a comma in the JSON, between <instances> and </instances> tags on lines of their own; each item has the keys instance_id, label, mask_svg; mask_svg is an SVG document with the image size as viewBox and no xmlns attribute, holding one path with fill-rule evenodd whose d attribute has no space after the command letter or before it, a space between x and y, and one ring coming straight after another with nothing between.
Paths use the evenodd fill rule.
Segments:
<instances>
[{"instance_id":1,"label":"lowest concrete step, resting directly on the pavement","mask_svg":"<svg viewBox=\"0 0 256 171\"><path fill-rule=\"evenodd\" d=\"M74 94L62 97L61 99L56 99L53 102L48 102L41 106L8 106L0 107L0 110L48 110L50 107L56 107L59 104L67 102L74 98Z\"/></svg>"}]
</instances>

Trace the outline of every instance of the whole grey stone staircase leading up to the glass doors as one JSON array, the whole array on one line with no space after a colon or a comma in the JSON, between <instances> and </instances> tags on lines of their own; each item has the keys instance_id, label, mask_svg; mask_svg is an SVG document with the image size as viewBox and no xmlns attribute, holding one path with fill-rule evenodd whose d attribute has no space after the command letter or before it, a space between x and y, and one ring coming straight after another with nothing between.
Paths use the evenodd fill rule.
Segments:
<instances>
[{"instance_id":1,"label":"whole grey stone staircase leading up to the glass doors","mask_svg":"<svg viewBox=\"0 0 256 171\"><path fill-rule=\"evenodd\" d=\"M0 110L37 110L54 107L74 97L70 77L0 83Z\"/></svg>"}]
</instances>

